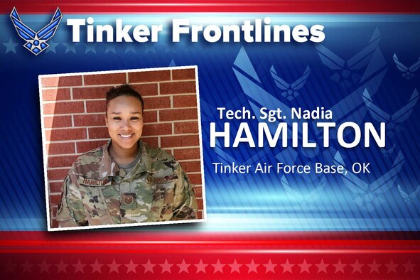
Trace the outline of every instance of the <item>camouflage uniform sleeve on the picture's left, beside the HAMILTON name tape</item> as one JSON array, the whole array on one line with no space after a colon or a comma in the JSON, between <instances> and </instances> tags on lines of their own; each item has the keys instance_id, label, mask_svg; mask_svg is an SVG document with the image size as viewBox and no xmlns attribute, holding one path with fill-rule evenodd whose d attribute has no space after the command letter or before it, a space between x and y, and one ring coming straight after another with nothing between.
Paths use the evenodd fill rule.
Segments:
<instances>
[{"instance_id":1,"label":"camouflage uniform sleeve on the picture's left, beside the HAMILTON name tape","mask_svg":"<svg viewBox=\"0 0 420 280\"><path fill-rule=\"evenodd\" d=\"M58 227L80 227L87 225L80 190L77 187L77 176L70 170L65 177L61 192L60 205L57 210Z\"/></svg>"}]
</instances>

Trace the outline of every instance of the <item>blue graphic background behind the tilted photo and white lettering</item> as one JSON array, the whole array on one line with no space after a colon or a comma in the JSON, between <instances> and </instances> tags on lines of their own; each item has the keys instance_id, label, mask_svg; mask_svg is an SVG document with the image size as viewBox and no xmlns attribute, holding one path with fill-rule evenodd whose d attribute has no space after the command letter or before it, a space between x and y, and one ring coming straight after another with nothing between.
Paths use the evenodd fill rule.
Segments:
<instances>
[{"instance_id":1,"label":"blue graphic background behind the tilted photo and white lettering","mask_svg":"<svg viewBox=\"0 0 420 280\"><path fill-rule=\"evenodd\" d=\"M38 31L50 15L26 15L21 19ZM259 107L334 108L334 121L372 122L377 119L363 101L367 90L373 103L392 115L409 104L415 89L420 90L420 70L409 80L397 69L394 53L406 66L420 59L419 16L336 15L306 16L281 14L165 14L95 15L95 23L112 23L122 18L127 24L163 24L171 29L172 18L190 18L207 25L241 24L244 20L269 16L271 24L325 26L325 41L316 43L171 43L171 33L161 33L158 43L71 43L67 18L90 15L64 15L50 47L36 56L23 48L9 16L0 16L0 63L2 90L0 138L0 229L45 230L45 188L41 141L38 75L100 70L126 70L167 66L198 65L201 127L205 165L205 194L208 222L183 227L188 230L420 230L420 184L418 138L419 106L412 99L406 120L387 126L387 146L379 149L357 146L343 149L331 139L329 149L225 148L222 141L210 148L210 122L222 129L217 107L249 110ZM318 45L318 47L317 47ZM329 58L325 58L325 52ZM331 55L334 53L335 55ZM324 54L324 55L323 55ZM360 55L360 65L352 58ZM328 55L327 55L328 56ZM357 56L356 56L357 57ZM324 60L322 60L323 58ZM333 67L330 58L347 62ZM309 68L309 72L306 69ZM336 68L336 69L331 69ZM277 77L293 84L306 72L303 87L287 95L276 85ZM347 71L347 72L344 72ZM350 73L350 75L349 75ZM289 98L288 98L289 97ZM414 102L415 101L415 102ZM341 116L341 117L339 117ZM240 121L230 121L235 136ZM391 120L387 120L389 124ZM276 125L276 124L274 124ZM257 132L257 120L249 121ZM310 125L311 126L311 125ZM322 136L310 129L319 144ZM351 138L351 135L349 135ZM216 174L213 162L254 165L258 162L333 164L337 153L344 163L370 162L372 173L357 175L351 188L338 174L305 176L271 174ZM383 185L377 179L394 172ZM376 182L375 182L376 181ZM412 199L404 198L404 193ZM382 188L383 187L383 188ZM154 227L156 229L171 227ZM173 227L172 227L173 228ZM181 229L181 227L179 227ZM126 230L139 230L138 227ZM146 229L141 229L146 230Z\"/></svg>"}]
</instances>

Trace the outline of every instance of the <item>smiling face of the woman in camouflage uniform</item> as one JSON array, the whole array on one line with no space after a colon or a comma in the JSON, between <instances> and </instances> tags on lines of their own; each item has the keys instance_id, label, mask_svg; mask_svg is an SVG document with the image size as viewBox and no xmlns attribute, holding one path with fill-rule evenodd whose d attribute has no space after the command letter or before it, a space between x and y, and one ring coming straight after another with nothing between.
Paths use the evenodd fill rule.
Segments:
<instances>
[{"instance_id":1,"label":"smiling face of the woman in camouflage uniform","mask_svg":"<svg viewBox=\"0 0 420 280\"><path fill-rule=\"evenodd\" d=\"M143 132L143 114L139 99L120 96L108 103L106 123L112 144L131 149Z\"/></svg>"}]
</instances>

